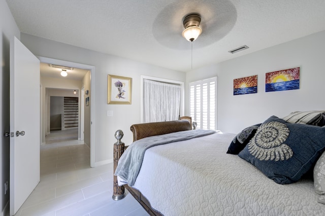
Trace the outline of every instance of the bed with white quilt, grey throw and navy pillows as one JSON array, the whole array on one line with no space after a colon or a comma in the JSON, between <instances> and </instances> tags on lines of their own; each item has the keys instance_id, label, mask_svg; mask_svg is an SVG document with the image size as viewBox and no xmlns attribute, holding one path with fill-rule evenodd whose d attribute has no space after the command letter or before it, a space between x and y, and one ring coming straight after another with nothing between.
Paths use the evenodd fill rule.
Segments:
<instances>
[{"instance_id":1,"label":"bed with white quilt, grey throw and navy pillows","mask_svg":"<svg viewBox=\"0 0 325 216\"><path fill-rule=\"evenodd\" d=\"M238 134L196 136L186 120L132 125L130 150L141 139L194 137L147 148L129 184L116 172L125 160L120 136L114 145L113 198L123 198L125 187L150 215L325 215L325 115L316 114L321 118L309 118L308 124L293 123L300 116L286 121L271 116ZM274 132L270 127L281 141L262 152L257 142Z\"/></svg>"}]
</instances>

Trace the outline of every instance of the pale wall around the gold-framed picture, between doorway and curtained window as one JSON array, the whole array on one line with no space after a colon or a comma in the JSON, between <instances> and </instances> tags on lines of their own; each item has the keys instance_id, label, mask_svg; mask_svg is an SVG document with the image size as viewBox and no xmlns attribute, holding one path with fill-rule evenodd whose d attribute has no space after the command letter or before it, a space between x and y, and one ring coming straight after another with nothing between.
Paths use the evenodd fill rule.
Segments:
<instances>
[{"instance_id":1,"label":"pale wall around the gold-framed picture, between doorway and curtained window","mask_svg":"<svg viewBox=\"0 0 325 216\"><path fill-rule=\"evenodd\" d=\"M133 141L130 126L140 123L140 85L141 75L185 82L186 74L157 67L117 56L98 53L67 44L41 39L28 34L21 34L22 43L35 55L64 61L77 62L95 66L95 166L113 162L113 145L116 142L115 131L123 130L122 139L126 145ZM108 75L131 77L132 104L107 104ZM92 95L93 98L93 95ZM107 111L113 111L107 117Z\"/></svg>"}]
</instances>

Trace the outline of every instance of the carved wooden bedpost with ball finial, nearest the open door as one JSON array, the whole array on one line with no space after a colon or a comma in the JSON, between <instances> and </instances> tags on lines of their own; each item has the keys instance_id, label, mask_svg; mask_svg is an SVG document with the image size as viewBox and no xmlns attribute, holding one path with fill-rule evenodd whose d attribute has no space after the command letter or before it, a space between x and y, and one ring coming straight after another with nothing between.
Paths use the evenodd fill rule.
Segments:
<instances>
[{"instance_id":1,"label":"carved wooden bedpost with ball finial, nearest the open door","mask_svg":"<svg viewBox=\"0 0 325 216\"><path fill-rule=\"evenodd\" d=\"M117 167L118 160L120 159L121 155L124 152L124 142L121 142L121 139L123 138L123 131L117 130L115 132L115 138L117 139L117 142L114 143L114 151L113 151L113 157L114 157L114 172ZM125 197L125 189L124 186L119 187L117 184L117 176L114 175L113 180L113 200L120 200Z\"/></svg>"}]
</instances>

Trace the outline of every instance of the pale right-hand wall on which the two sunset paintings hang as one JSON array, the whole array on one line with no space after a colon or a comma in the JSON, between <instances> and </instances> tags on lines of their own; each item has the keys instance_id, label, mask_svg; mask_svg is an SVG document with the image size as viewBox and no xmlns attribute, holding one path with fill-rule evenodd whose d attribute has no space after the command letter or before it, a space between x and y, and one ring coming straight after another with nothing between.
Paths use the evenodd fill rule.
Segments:
<instances>
[{"instance_id":1,"label":"pale right-hand wall on which the two sunset paintings hang","mask_svg":"<svg viewBox=\"0 0 325 216\"><path fill-rule=\"evenodd\" d=\"M271 115L281 118L293 111L325 110L324 50L325 31L322 31L190 71L186 83L217 76L218 129L237 133ZM293 67L300 67L299 90L265 92L266 73ZM234 96L234 79L252 75L258 75L257 93ZM185 104L188 104L186 92Z\"/></svg>"}]
</instances>

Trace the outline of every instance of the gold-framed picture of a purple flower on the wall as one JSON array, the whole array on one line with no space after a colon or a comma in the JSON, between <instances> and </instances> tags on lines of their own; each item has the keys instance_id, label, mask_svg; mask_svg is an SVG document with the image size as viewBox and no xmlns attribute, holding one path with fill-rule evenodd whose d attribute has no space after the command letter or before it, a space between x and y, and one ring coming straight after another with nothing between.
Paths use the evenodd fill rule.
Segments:
<instances>
[{"instance_id":1,"label":"gold-framed picture of a purple flower on the wall","mask_svg":"<svg viewBox=\"0 0 325 216\"><path fill-rule=\"evenodd\" d=\"M108 75L107 103L131 104L132 78Z\"/></svg>"}]
</instances>

